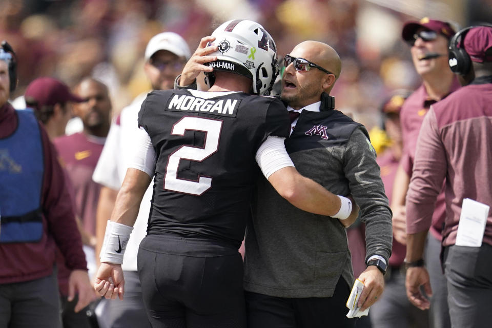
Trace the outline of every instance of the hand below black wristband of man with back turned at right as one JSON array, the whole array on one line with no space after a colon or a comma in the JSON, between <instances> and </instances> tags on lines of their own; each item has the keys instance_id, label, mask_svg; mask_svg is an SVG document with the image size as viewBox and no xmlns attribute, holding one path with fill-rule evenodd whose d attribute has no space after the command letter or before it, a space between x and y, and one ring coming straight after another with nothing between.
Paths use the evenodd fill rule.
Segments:
<instances>
[{"instance_id":1,"label":"hand below black wristband of man with back turned at right","mask_svg":"<svg viewBox=\"0 0 492 328\"><path fill-rule=\"evenodd\" d=\"M426 310L430 306L429 299L422 294L420 286L424 286L427 297L432 296L429 274L425 267L408 268L406 271L405 289L408 300L420 310Z\"/></svg>"}]
</instances>

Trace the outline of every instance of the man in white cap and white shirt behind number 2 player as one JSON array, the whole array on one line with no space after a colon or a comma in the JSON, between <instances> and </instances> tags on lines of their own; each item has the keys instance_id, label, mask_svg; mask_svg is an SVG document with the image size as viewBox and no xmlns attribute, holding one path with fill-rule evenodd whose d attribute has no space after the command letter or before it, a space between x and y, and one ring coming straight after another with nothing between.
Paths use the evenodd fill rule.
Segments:
<instances>
[{"instance_id":1,"label":"man in white cap and white shirt behind number 2 player","mask_svg":"<svg viewBox=\"0 0 492 328\"><path fill-rule=\"evenodd\" d=\"M167 90L174 87L174 78L178 75L191 52L186 41L176 33L163 32L152 37L145 51L144 70L153 90ZM96 257L103 243L106 221L114 207L116 195L121 187L129 166L128 152L135 131L138 132L137 115L147 92L137 96L133 103L124 108L113 122L106 139L103 152L99 157L93 180L103 185L99 196L96 216ZM152 186L148 188L141 202L135 228L127 244L127 256L122 264L125 271L125 299L108 302L104 300L104 316L98 316L101 327L149 326L137 273L137 251L140 241L145 237L147 219L150 211ZM96 311L97 312L97 311ZM105 322L101 322L101 321Z\"/></svg>"}]
</instances>

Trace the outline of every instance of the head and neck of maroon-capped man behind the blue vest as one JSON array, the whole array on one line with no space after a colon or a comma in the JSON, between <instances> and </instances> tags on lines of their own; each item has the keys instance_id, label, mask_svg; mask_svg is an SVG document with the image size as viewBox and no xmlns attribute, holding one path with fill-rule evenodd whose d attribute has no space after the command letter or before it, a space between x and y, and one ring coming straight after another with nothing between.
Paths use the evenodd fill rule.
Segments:
<instances>
[{"instance_id":1,"label":"head and neck of maroon-capped man behind the blue vest","mask_svg":"<svg viewBox=\"0 0 492 328\"><path fill-rule=\"evenodd\" d=\"M72 115L72 103L84 99L70 92L63 82L52 77L39 77L27 86L26 106L35 109L34 113L44 124L51 140L65 134L65 127Z\"/></svg>"}]
</instances>

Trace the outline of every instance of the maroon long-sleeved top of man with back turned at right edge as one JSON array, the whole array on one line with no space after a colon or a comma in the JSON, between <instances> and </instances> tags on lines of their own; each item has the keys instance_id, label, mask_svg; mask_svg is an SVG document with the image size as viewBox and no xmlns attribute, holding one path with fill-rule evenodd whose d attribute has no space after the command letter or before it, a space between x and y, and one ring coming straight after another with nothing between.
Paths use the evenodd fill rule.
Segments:
<instances>
[{"instance_id":1,"label":"maroon long-sleeved top of man with back turned at right edge","mask_svg":"<svg viewBox=\"0 0 492 328\"><path fill-rule=\"evenodd\" d=\"M444 179L444 245L456 241L463 198L492 206L492 76L486 81L453 92L426 115L406 200L408 233L430 227ZM490 245L491 213L483 238Z\"/></svg>"}]
</instances>

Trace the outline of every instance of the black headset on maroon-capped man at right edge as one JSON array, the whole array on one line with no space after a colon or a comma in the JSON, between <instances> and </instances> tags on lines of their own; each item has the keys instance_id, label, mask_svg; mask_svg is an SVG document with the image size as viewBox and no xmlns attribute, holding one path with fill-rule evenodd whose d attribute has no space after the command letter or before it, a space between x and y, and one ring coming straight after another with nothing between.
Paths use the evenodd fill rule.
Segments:
<instances>
[{"instance_id":1,"label":"black headset on maroon-capped man at right edge","mask_svg":"<svg viewBox=\"0 0 492 328\"><path fill-rule=\"evenodd\" d=\"M449 41L449 68L453 71L453 73L466 75L470 71L471 59L463 47L463 40L470 29L480 26L492 28L492 24L487 23L468 26L458 31Z\"/></svg>"}]
</instances>

